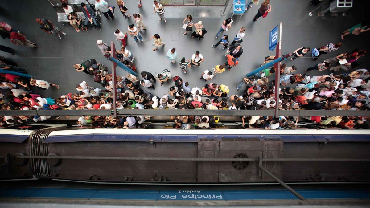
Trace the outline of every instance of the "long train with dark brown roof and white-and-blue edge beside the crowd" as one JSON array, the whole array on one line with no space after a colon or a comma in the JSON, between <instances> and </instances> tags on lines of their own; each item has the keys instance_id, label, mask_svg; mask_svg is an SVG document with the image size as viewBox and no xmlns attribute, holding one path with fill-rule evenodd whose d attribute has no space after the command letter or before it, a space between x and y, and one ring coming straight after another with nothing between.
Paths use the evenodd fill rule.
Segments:
<instances>
[{"instance_id":1,"label":"long train with dark brown roof and white-and-blue edge beside the crowd","mask_svg":"<svg viewBox=\"0 0 370 208\"><path fill-rule=\"evenodd\" d=\"M108 129L31 123L3 128L0 180L275 182L263 167L285 182L369 182L369 130L325 129L304 122L280 130L245 129L240 122L218 123L212 129L172 126L148 122L135 129Z\"/></svg>"}]
</instances>

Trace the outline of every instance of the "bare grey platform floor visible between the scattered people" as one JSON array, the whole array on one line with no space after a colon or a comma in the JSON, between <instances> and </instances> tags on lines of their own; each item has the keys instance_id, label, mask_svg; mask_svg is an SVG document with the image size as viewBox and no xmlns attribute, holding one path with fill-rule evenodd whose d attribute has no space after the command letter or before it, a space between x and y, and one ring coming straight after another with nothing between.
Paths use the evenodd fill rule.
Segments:
<instances>
[{"instance_id":1,"label":"bare grey platform floor visible between the scattered people","mask_svg":"<svg viewBox=\"0 0 370 208\"><path fill-rule=\"evenodd\" d=\"M107 1L112 6L117 6L115 0ZM94 2L94 0L91 0L91 2ZM365 3L364 1L361 2ZM158 15L154 13L151 0L143 0L142 3L143 6L139 9L137 1L125 1L128 13L141 13L148 28L141 33L144 43L138 42L135 44L133 38L128 37L127 48L134 54L134 63L138 68L138 72L149 71L152 74L157 74L168 68L174 76L178 75L185 81L188 81L191 87L197 86L201 88L205 84L204 81L199 80L202 72L226 61L224 57L225 50L222 50L221 46L212 48L211 45L216 43L215 34L222 21L232 15L229 9L231 4L226 9L226 16L221 16L223 7L165 7L167 23L164 23L163 21L160 22ZM253 23L252 18L257 13L257 6L248 9L240 20L239 16L233 17L234 23L231 30L222 34L228 34L229 40L232 40L239 28L244 26L246 28L246 34L242 43L244 53L240 57L238 66L233 67L229 72L225 71L217 75L207 83L226 84L231 89L229 94L237 94L236 86L240 83L242 77L257 68L263 62L263 57L275 54L275 51L268 49L268 37L269 31L278 25L280 21L283 22L282 53L286 53L302 46L314 48L341 41L340 35L342 31L360 23L366 14L364 9L367 8L366 5L360 5L360 2L355 1L354 8L345 17L341 15L332 17L330 13L327 13L324 17L317 17L315 13L312 17L309 17L308 12L315 8L309 5L309 0L275 0L271 2L271 5L272 12L266 18L261 17L255 23ZM326 8L327 6L324 6L319 11ZM73 64L95 58L98 62L111 67L110 61L102 57L96 45L96 40L102 39L106 43L114 41L117 46L120 46L120 43L115 40L115 29L119 28L122 31L127 31L128 24L134 23L132 17L124 19L118 7L116 7L115 19L113 21L105 19L104 16L100 17L101 32L90 27L88 33L82 31L76 33L68 23L63 26L57 22L56 11L45 0L6 1L6 3L1 4L0 11L1 21L5 21L13 26L14 29L20 30L29 40L40 46L38 49L15 46L9 39L1 39L1 45L14 48L17 54L16 56L10 56L10 54L0 51L0 55L16 61L20 67L27 69L34 78L60 84L59 90L37 90L44 96L55 99L63 94L76 93L75 84L81 83L83 80L93 87L101 88L99 84L93 82L91 76L75 71ZM208 33L201 41L191 39L189 34L187 36L182 35L184 32L182 21L187 14L193 16L194 22L203 21L203 25ZM36 18L51 20L55 26L65 31L67 36L63 36L63 39L59 40L55 36L44 33L38 28L35 21ZM152 41L148 40L154 33L158 33L166 43L164 48L159 48L157 51L152 51ZM350 52L354 48L369 49L369 35L370 32L360 34L359 36L347 36L339 50L330 54L324 54L317 61L312 61L311 58L299 58L295 61L286 61L286 64L288 66L297 66L298 70L296 73L303 73L303 70L307 67L318 64L327 57ZM188 73L184 74L179 69L177 62L176 64L171 64L165 58L167 51L172 47L176 48L178 58L186 57L188 59L195 51L199 50L203 54L205 61L200 67L189 69ZM309 57L308 54L307 57ZM369 55L359 60L363 65L360 68L369 67L370 60L368 57ZM117 73L121 76L126 74L120 68L117 68ZM337 74L339 73L337 72ZM314 71L309 75L317 76L320 74L329 74L329 71ZM273 79L273 76L269 78ZM169 81L161 87L157 82L156 90L150 89L149 91L153 91L155 95L161 96L172 85L174 83Z\"/></svg>"}]
</instances>

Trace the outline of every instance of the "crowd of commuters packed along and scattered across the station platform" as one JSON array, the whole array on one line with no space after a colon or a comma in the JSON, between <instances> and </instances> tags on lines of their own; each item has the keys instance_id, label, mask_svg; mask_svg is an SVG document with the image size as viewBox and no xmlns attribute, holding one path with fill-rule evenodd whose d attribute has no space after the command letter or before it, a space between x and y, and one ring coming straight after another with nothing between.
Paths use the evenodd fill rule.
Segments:
<instances>
[{"instance_id":1,"label":"crowd of commuters packed along and scattered across the station platform","mask_svg":"<svg viewBox=\"0 0 370 208\"><path fill-rule=\"evenodd\" d=\"M252 3L258 4L255 1ZM253 18L256 21L265 13L271 12L270 1L263 1L258 14ZM117 0L122 15L125 18L131 17L128 14L128 9L122 0ZM251 4L248 4L251 7ZM68 14L73 13L66 6L65 10ZM64 7L63 6L63 7ZM84 8L85 5L81 4ZM142 6L141 1L138 1L138 7ZM100 10L108 19L114 19L110 10L110 6L104 0L96 0L95 7ZM154 1L154 12L158 14L159 20L166 22L164 17L164 8L158 1ZM108 10L107 10L108 9ZM84 13L88 19L90 12L86 9ZM73 14L72 14L73 15ZM224 34L222 38L212 45L216 48L219 44L223 45L225 49L225 63L219 63L212 67L212 69L205 70L200 75L200 80L205 81L205 85L190 86L186 79L181 78L182 73L186 73L188 68L199 67L206 57L200 51L195 51L190 59L182 57L178 60L176 48L171 48L166 53L166 59L174 64L179 63L181 72L176 71L173 76L168 69L164 69L162 73L153 75L149 71L139 71L134 64L134 54L127 48L127 34L129 34L135 43L138 40L141 42L143 38L140 33L145 30L144 19L141 14L132 14L135 19L135 24L130 24L127 32L119 29L115 30L114 35L117 41L121 41L122 46L112 51L110 46L102 40L97 40L97 45L102 55L109 58L112 53L115 53L117 59L121 61L130 70L138 73L139 76L128 73L126 76L112 77L108 72L108 68L99 63L95 59L84 61L83 63L74 64L73 67L77 72L84 72L90 74L92 79L82 81L76 85L76 91L66 95L61 95L57 99L43 98L42 95L36 94L32 87L40 87L43 89L53 88L58 89L58 85L49 83L47 81L38 79L27 79L12 74L0 74L2 84L1 88L1 108L2 110L35 110L35 109L68 109L68 110L111 110L114 106L117 109L134 108L134 109L194 109L194 110L265 110L275 109L279 110L367 110L370 103L370 72L361 68L361 57L366 56L367 51L361 49L354 49L348 51L349 53L336 54L333 58L322 58L325 54L332 55L333 51L338 50L344 43L329 43L322 47L310 48L300 47L292 51L287 60L280 64L280 71L275 67L266 68L253 76L244 77L241 83L236 87L240 94L230 94L227 83L212 82L212 78L217 74L223 73L226 69L231 70L239 64L239 57L243 53L242 41L244 37L245 27L241 27L229 45L228 35ZM85 21L86 21L85 19ZM88 19L89 20L89 19ZM47 32L54 34L61 38L57 33L60 31L50 21L46 19L36 19L40 28ZM90 20L89 20L90 21ZM80 23L79 23L80 22ZM92 20L90 21L92 22ZM231 30L232 20L226 19L221 24L219 31L215 34L218 39L220 34L224 31ZM71 25L75 27L78 32L79 29L86 30L86 24L81 18L70 21ZM191 37L204 38L206 33L202 21L193 24L191 15L187 15L183 21L185 36L188 31L195 31ZM75 25L77 24L77 26ZM80 27L82 24L82 27ZM94 24L95 25L95 24ZM360 24L361 32L366 31L369 21L364 21ZM97 26L97 25L95 25ZM4 28L5 29L5 28ZM3 30L4 30L3 29ZM347 31L345 31L347 32ZM18 31L11 31L17 33ZM346 34L343 34L345 36ZM342 36L342 39L343 39ZM154 34L149 40L154 39L152 45L153 51L158 47L164 47L165 43L162 41L159 34ZM25 41L28 43L27 41ZM29 43L31 44L31 43ZM36 44L35 44L36 46ZM308 54L308 55L307 55ZM222 53L223 55L223 53ZM311 56L310 56L311 55ZM313 66L305 69L304 74L296 74L297 67L294 62L299 61L299 58L312 58ZM261 66L274 60L275 56L265 57ZM298 60L297 60L298 59ZM0 68L26 74L26 70L17 67L17 64L1 57ZM165 60L164 60L165 61ZM310 71L318 70L326 73L322 76L312 76ZM333 75L332 72L340 71L341 74ZM274 77L275 73L280 73L280 88L279 97L275 98L275 81L270 77ZM220 75L218 75L220 76ZM114 79L116 80L117 91L113 91ZM270 80L269 80L270 79ZM94 88L88 85L91 81L101 84L101 88ZM164 83L171 83L168 92L165 94L155 95L147 89L155 90L155 85L162 86ZM296 84L296 87L286 87L287 84ZM157 86L158 87L158 86ZM113 96L116 93L117 102L113 102ZM19 116L19 117L3 117L2 124L12 125L14 123L24 123L28 121L44 121L50 116ZM197 128L211 128L214 123L219 121L219 117L211 116L174 116L176 128L190 128L190 124L196 125ZM320 117L312 116L305 117L305 119L320 123L322 125L339 125L343 128L353 128L355 125L363 125L367 123L366 117ZM77 124L83 126L84 124L91 124L95 122L104 122L110 128L134 128L142 124L146 120L151 120L151 115L140 116L122 116L114 118L113 116L81 116ZM255 125L259 128L277 129L282 126L294 126L297 124L298 117L262 117L262 116L244 116L242 117L242 124ZM248 128L248 125L245 125Z\"/></svg>"}]
</instances>

